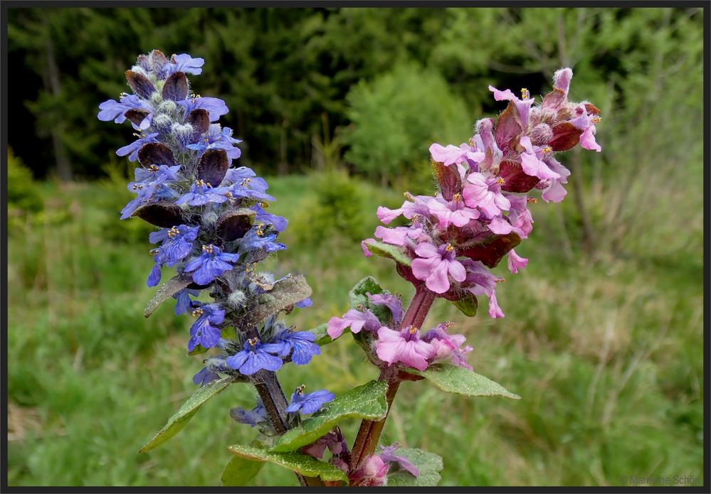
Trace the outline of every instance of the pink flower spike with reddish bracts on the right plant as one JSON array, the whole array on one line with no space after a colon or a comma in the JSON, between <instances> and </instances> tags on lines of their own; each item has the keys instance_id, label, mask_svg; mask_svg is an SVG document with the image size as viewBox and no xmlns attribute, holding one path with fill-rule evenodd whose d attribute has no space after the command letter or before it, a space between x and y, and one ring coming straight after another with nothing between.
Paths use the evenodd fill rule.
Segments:
<instances>
[{"instance_id":1,"label":"pink flower spike with reddish bracts on the right plant","mask_svg":"<svg viewBox=\"0 0 711 494\"><path fill-rule=\"evenodd\" d=\"M589 102L569 102L571 79L572 70L558 70L552 92L540 104L525 89L517 97L490 86L495 100L508 102L506 109L495 120L477 122L475 135L465 144L432 144L438 193L406 193L400 208L379 207L377 215L385 225L401 216L408 224L377 227L379 240L364 240L364 254L395 259L399 274L432 296L475 306L476 297L485 295L489 315L503 317L495 292L504 279L490 269L504 256L512 273L527 265L514 247L532 230L527 205L536 199L528 193L542 190L543 200L559 202L570 172L557 161L557 152L576 144L601 150L595 141L599 109ZM401 306L396 312L402 313ZM376 355L389 365L399 362L423 370L434 360L451 358L453 364L468 367L465 353L470 347L462 349L463 336L449 335L447 324L420 338L419 328L401 327L395 312L393 316L388 327L371 311L352 309L332 318L328 332L332 338L348 327L352 333L372 332Z\"/></svg>"}]
</instances>

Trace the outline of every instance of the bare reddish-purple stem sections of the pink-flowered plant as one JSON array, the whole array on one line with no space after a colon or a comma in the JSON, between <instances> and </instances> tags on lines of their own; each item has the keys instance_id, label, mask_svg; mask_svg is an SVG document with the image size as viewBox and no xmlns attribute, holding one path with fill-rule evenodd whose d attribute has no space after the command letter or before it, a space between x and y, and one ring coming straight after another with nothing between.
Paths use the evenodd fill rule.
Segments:
<instances>
[{"instance_id":1,"label":"bare reddish-purple stem sections of the pink-flowered plant","mask_svg":"<svg viewBox=\"0 0 711 494\"><path fill-rule=\"evenodd\" d=\"M404 329L409 326L421 328L433 301L434 295L431 291L426 289L424 286L417 286L415 296L412 298L412 301L407 308L400 325L400 329ZM358 435L356 436L353 443L353 449L351 451L351 470L354 470L354 468L360 466L363 460L367 456L372 455L375 451L375 447L380 439L380 434L385 426L385 421L389 417L390 409L392 407L393 400L395 399L395 394L397 393L401 382L401 378L398 376L396 367L384 367L381 369L378 380L388 383L388 389L386 391L386 400L388 403L387 414L383 419L378 421L364 420L361 422L360 429L358 429Z\"/></svg>"}]
</instances>

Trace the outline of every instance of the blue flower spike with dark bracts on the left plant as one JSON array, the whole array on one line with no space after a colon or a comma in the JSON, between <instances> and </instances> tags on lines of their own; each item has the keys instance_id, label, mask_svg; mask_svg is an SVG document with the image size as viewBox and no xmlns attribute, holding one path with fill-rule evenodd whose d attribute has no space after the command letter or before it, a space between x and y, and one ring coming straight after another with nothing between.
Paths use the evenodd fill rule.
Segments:
<instances>
[{"instance_id":1,"label":"blue flower spike with dark bracts on the left plant","mask_svg":"<svg viewBox=\"0 0 711 494\"><path fill-rule=\"evenodd\" d=\"M263 323L250 317L262 296L274 299L275 287L295 279L256 271L268 254L286 248L277 237L287 222L265 211L274 198L264 179L233 166L241 141L217 123L228 112L225 102L191 92L187 75L199 75L203 65L202 58L187 54L140 55L126 71L134 94L103 102L98 114L103 121L128 121L136 131L137 139L117 151L139 163L128 185L136 197L121 218L137 216L157 227L149 235L156 247L150 251L148 286L159 284L164 267L174 267L175 312L194 317L188 351L221 350L195 375L200 385L221 374L274 371L287 361L305 365L320 353L312 333L275 322L279 310L309 306L310 289L303 299L265 313ZM197 300L201 291L210 292L211 303ZM315 406L309 403L301 408Z\"/></svg>"}]
</instances>

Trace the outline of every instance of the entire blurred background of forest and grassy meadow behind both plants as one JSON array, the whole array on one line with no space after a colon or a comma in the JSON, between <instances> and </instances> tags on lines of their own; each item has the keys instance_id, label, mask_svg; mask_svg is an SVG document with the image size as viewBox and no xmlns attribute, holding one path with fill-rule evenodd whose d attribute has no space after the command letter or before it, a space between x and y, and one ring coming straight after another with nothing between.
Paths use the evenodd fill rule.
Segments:
<instances>
[{"instance_id":1,"label":"entire blurred background of forest and grassy meadow behind both plants","mask_svg":"<svg viewBox=\"0 0 711 494\"><path fill-rule=\"evenodd\" d=\"M703 479L703 149L701 9L9 9L9 485L219 485L226 446L255 431L232 386L161 448L137 453L191 394L201 357L189 323L154 289L151 227L120 221L130 128L98 122L139 53L205 58L194 90L221 97L289 227L276 274L302 272L319 325L375 276L412 290L386 259L363 257L377 205L430 193L428 146L459 144L494 117L488 85L547 92L574 70L572 100L601 109L603 151L562 154L563 203L531 205L534 229L505 263L497 299L455 321L476 372L521 400L468 399L406 382L386 424L444 459L442 485L626 485ZM72 26L82 26L75 29ZM338 394L376 377L350 338L279 372ZM352 437L358 423L344 426ZM265 466L253 485L296 485Z\"/></svg>"}]
</instances>

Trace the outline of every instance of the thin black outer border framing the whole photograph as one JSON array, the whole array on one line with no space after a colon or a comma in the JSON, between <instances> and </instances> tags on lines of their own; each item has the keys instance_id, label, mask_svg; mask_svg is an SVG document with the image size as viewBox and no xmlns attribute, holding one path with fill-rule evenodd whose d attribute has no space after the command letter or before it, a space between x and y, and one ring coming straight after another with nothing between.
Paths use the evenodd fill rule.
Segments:
<instances>
[{"instance_id":1,"label":"thin black outer border framing the whole photograph","mask_svg":"<svg viewBox=\"0 0 711 494\"><path fill-rule=\"evenodd\" d=\"M404 0L404 1L374 1L374 0L276 0L276 1L194 1L194 0L146 0L146 1L98 1L98 0L64 0L64 1L51 1L51 0L34 0L34 1L19 1L19 0L9 0L2 1L0 4L1 14L0 14L0 33L2 35L0 53L2 55L2 74L3 77L0 80L1 87L1 100L0 108L4 109L2 112L2 131L1 131L1 143L2 143L2 185L1 185L1 203L2 203L2 218L1 220L1 254L2 254L2 272L3 276L0 280L0 294L4 294L1 297L0 303L2 304L2 313L0 315L2 323L2 332L0 335L0 345L3 351L4 367L2 368L2 378L1 378L1 391L2 391L2 401L3 401L3 421L2 421L2 458L7 458L8 453L8 441L7 441L7 372L8 372L8 355L7 355L7 293L8 293L8 283L7 283L7 125L8 125L8 115L7 115L7 77L8 77L8 58L7 58L7 9L9 8L31 8L31 7L53 7L53 8L67 8L67 7L137 7L137 8L160 8L160 7L238 7L238 8L255 8L255 7L287 7L287 8L301 8L301 7L431 7L431 8L443 8L443 7L700 7L704 14L704 219L708 222L711 215L709 214L709 181L711 178L711 172L709 168L711 166L710 159L710 149L709 144L711 141L710 137L710 97L709 92L711 88L709 87L709 77L708 71L711 67L710 64L710 33L711 33L711 23L709 21L707 7L711 6L709 1L669 1L669 0L629 0L629 1L614 1L614 0L601 0L601 1L591 1L591 0L578 0L578 1L554 1L554 0L538 0L538 1L455 1L455 0ZM705 226L708 226L705 224ZM709 306L709 284L708 281L711 278L711 269L708 263L709 251L710 251L710 234L709 229L704 229L704 308ZM709 431L710 425L710 415L709 415L709 378L711 377L711 361L707 358L706 350L708 348L710 339L710 328L709 328L709 318L707 314L703 317L703 328L704 328L704 484L702 486L693 487L618 487L618 486L597 486L597 487L576 487L576 486L565 486L565 487L475 487L475 486L461 486L461 487L433 487L433 488L405 488L405 487L394 487L394 488L369 488L368 492L399 492L399 493L411 493L411 492L441 492L441 493L465 493L465 492L492 492L492 493L512 493L512 492L530 492L530 493L596 493L596 492L611 492L611 493L626 493L626 492L637 492L639 490L644 490L648 493L675 493L675 492L685 492L685 493L707 493L710 492L710 481L709 476L711 472L709 463L709 453L710 453L710 437L707 432ZM225 492L225 493L248 493L248 492L267 492L267 493L288 493L288 492L352 492L349 488L297 488L297 487L15 487L8 486L8 473L7 473L7 463L6 461L2 464L1 468L1 478L0 478L0 493L211 493L211 492Z\"/></svg>"}]
</instances>

